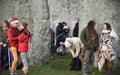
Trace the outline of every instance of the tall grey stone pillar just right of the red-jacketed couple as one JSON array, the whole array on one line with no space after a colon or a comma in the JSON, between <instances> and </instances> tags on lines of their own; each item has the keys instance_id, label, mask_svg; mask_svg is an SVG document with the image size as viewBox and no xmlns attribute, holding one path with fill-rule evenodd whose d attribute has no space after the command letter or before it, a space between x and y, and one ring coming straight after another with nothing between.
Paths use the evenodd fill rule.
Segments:
<instances>
[{"instance_id":1,"label":"tall grey stone pillar just right of the red-jacketed couple","mask_svg":"<svg viewBox=\"0 0 120 75\"><path fill-rule=\"evenodd\" d=\"M42 64L49 54L50 30L47 0L33 1L34 32L30 50L30 64Z\"/></svg>"}]
</instances>

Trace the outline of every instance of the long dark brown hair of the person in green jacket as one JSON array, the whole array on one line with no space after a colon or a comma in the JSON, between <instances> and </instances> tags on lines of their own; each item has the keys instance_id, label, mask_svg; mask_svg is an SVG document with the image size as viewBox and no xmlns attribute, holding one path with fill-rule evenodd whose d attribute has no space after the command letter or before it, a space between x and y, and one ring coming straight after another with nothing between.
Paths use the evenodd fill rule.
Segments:
<instances>
[{"instance_id":1,"label":"long dark brown hair of the person in green jacket","mask_svg":"<svg viewBox=\"0 0 120 75\"><path fill-rule=\"evenodd\" d=\"M96 37L96 31L95 31L95 26L96 25L96 22L91 20L88 22L88 25L87 25L87 29L89 31L89 37L90 37L90 40L93 38L93 37Z\"/></svg>"}]
</instances>

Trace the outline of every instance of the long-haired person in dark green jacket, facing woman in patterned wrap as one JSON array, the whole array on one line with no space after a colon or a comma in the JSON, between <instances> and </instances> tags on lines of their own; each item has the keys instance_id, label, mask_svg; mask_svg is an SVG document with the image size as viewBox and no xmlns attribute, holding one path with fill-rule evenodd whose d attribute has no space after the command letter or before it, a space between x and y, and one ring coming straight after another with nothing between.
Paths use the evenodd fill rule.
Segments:
<instances>
[{"instance_id":1,"label":"long-haired person in dark green jacket, facing woman in patterned wrap","mask_svg":"<svg viewBox=\"0 0 120 75\"><path fill-rule=\"evenodd\" d=\"M98 34L95 30L96 22L91 20L88 22L80 35L80 39L84 44L84 58L82 65L82 74L93 74L94 52L97 51L99 46Z\"/></svg>"}]
</instances>

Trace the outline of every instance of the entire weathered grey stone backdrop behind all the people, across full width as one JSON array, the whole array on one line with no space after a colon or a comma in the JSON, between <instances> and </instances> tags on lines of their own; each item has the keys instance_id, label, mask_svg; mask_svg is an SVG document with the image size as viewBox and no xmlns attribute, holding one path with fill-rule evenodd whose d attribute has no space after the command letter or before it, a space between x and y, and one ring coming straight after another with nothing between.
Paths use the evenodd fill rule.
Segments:
<instances>
[{"instance_id":1,"label":"entire weathered grey stone backdrop behind all the people, across full width","mask_svg":"<svg viewBox=\"0 0 120 75\"><path fill-rule=\"evenodd\" d=\"M99 34L103 23L109 22L120 37L119 3L120 0L0 0L0 22L13 17L29 22L34 33L30 63L41 64L49 51L49 20L54 30L58 22L67 22L71 32L78 19L79 32L89 20L95 20Z\"/></svg>"}]
</instances>

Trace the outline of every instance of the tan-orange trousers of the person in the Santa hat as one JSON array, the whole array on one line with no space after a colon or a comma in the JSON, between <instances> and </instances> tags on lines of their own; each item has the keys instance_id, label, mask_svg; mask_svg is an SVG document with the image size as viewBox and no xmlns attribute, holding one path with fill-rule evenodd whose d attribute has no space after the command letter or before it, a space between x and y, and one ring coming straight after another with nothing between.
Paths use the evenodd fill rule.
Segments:
<instances>
[{"instance_id":1,"label":"tan-orange trousers of the person in the Santa hat","mask_svg":"<svg viewBox=\"0 0 120 75\"><path fill-rule=\"evenodd\" d=\"M16 47L11 47L10 51L12 52L13 55L13 62L10 71L15 72L17 68L17 62L18 62L18 52Z\"/></svg>"}]
</instances>

